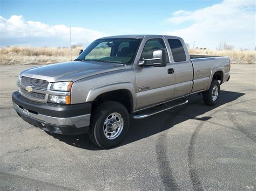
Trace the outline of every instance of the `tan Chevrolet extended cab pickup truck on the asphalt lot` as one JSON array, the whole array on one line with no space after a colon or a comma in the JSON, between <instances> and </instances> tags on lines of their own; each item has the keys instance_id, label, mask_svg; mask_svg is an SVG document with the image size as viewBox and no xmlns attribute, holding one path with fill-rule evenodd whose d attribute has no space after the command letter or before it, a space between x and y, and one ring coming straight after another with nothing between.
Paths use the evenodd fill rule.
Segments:
<instances>
[{"instance_id":1,"label":"tan Chevrolet extended cab pickup truck on the asphalt lot","mask_svg":"<svg viewBox=\"0 0 256 191\"><path fill-rule=\"evenodd\" d=\"M92 143L110 148L123 141L130 118L186 104L196 93L214 105L229 79L227 57L190 55L180 37L104 37L73 61L19 73L12 102L32 125L63 135L89 133Z\"/></svg>"}]
</instances>

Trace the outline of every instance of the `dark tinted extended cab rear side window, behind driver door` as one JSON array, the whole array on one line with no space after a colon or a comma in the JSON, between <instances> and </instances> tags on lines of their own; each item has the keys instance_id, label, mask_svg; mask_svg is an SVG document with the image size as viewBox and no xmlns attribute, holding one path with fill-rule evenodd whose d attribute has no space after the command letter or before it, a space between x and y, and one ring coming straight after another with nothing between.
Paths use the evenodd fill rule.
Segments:
<instances>
[{"instance_id":1,"label":"dark tinted extended cab rear side window, behind driver door","mask_svg":"<svg viewBox=\"0 0 256 191\"><path fill-rule=\"evenodd\" d=\"M174 62L186 61L186 54L179 39L168 39Z\"/></svg>"}]
</instances>

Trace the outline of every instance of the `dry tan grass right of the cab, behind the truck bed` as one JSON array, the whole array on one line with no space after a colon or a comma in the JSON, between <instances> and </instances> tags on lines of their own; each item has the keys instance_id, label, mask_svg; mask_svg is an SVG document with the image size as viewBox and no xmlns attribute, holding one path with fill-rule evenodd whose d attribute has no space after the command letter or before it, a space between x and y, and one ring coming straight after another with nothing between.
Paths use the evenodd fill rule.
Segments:
<instances>
[{"instance_id":1,"label":"dry tan grass right of the cab, behind the truck bed","mask_svg":"<svg viewBox=\"0 0 256 191\"><path fill-rule=\"evenodd\" d=\"M190 54L228 56L231 63L256 63L256 51L231 51L212 49L188 49Z\"/></svg>"}]
</instances>

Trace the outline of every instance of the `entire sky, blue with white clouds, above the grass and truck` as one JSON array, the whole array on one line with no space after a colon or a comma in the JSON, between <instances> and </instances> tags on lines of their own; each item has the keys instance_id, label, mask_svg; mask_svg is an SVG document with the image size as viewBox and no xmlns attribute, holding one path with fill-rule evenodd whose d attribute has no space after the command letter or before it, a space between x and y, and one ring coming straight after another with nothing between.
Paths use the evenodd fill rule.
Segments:
<instances>
[{"instance_id":1,"label":"entire sky, blue with white clouds, above the grass and truck","mask_svg":"<svg viewBox=\"0 0 256 191\"><path fill-rule=\"evenodd\" d=\"M0 47L84 46L102 36L167 34L195 47L255 47L255 0L0 0ZM76 27L76 28L75 28Z\"/></svg>"}]
</instances>

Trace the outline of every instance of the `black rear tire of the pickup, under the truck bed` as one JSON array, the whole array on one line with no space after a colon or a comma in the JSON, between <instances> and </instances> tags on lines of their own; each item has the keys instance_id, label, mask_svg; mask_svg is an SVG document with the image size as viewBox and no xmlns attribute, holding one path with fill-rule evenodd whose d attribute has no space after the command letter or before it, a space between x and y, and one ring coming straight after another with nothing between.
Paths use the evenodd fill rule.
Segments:
<instances>
[{"instance_id":1,"label":"black rear tire of the pickup, under the truck bed","mask_svg":"<svg viewBox=\"0 0 256 191\"><path fill-rule=\"evenodd\" d=\"M217 97L213 96L214 95L213 94L213 88L216 88L216 87L218 88ZM212 80L212 84L210 86L210 89L208 89L207 91L205 91L203 93L205 104L210 105L210 106L215 105L219 100L219 94L220 94L220 84L219 84L218 80Z\"/></svg>"}]
</instances>

